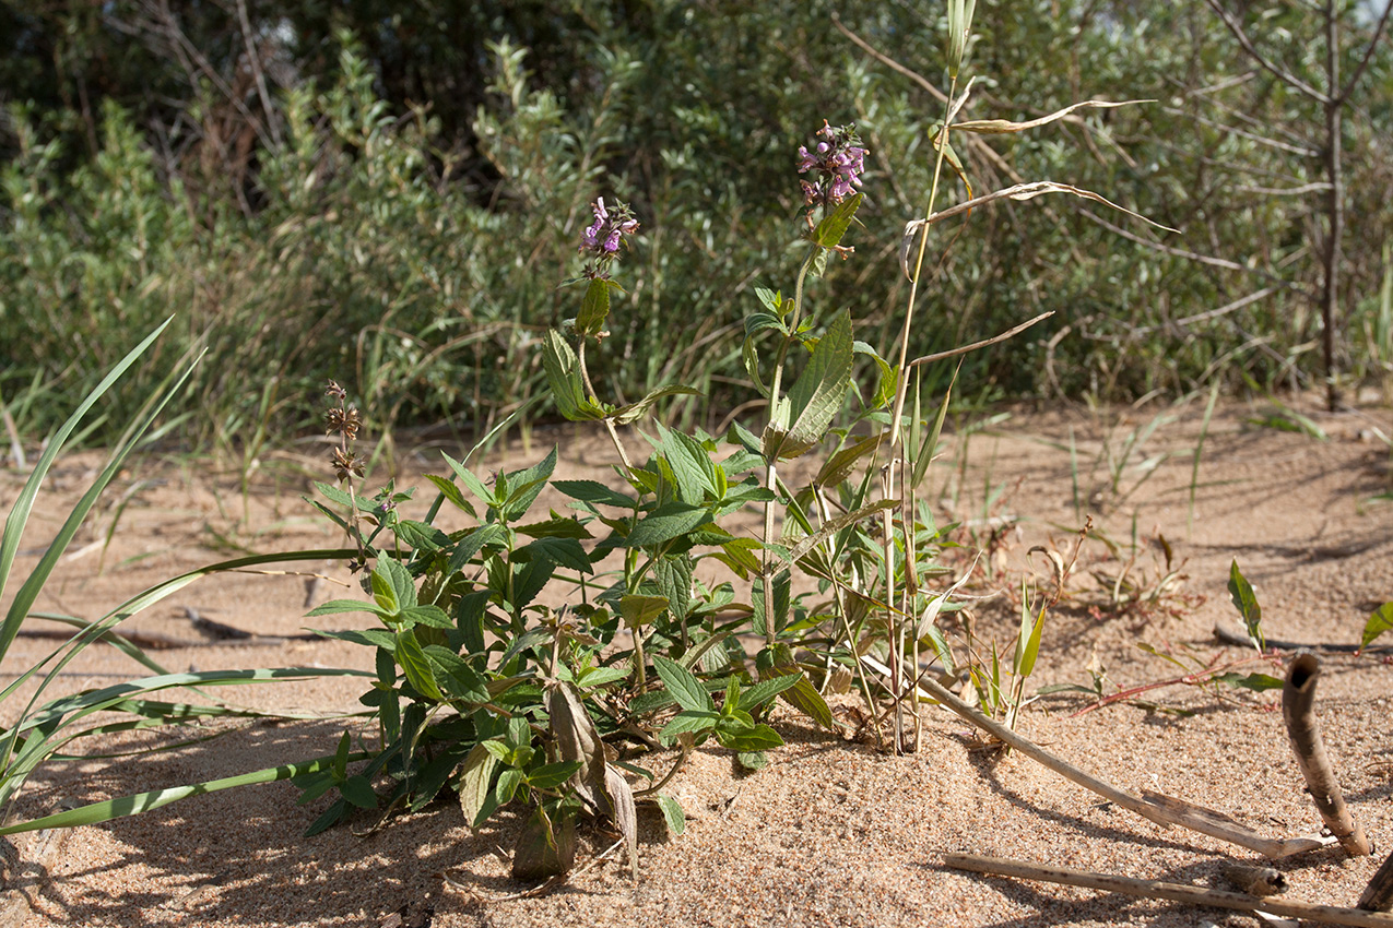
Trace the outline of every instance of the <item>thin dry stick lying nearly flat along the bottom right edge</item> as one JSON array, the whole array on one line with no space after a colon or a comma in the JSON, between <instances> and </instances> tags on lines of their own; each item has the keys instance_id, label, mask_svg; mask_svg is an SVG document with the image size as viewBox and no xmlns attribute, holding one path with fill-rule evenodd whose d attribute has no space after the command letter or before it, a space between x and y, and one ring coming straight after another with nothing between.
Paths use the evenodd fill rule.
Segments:
<instances>
[{"instance_id":1,"label":"thin dry stick lying nearly flat along the bottom right edge","mask_svg":"<svg viewBox=\"0 0 1393 928\"><path fill-rule=\"evenodd\" d=\"M949 867L971 870L978 874L1041 879L1066 886L1085 886L1088 889L1127 893L1128 896L1141 896L1144 899L1169 899L1194 906L1213 906L1215 909L1233 909L1237 911L1265 911L1304 921L1319 921L1328 925L1393 928L1393 915L1385 915L1383 913L1344 909L1340 906L1318 906L1291 899L1272 899L1270 896L1263 899L1224 889L1167 883L1159 879L1133 879L1112 874L1091 874L1068 867L1041 867L1022 861L1002 860L999 857L981 857L978 854L943 854L943 863Z\"/></svg>"}]
</instances>

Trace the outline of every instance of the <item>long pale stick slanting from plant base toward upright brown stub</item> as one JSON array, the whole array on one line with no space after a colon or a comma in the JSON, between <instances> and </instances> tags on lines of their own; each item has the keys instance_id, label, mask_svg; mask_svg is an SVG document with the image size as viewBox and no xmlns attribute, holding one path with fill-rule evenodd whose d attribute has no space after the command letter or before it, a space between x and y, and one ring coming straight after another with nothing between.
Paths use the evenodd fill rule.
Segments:
<instances>
[{"instance_id":1,"label":"long pale stick slanting from plant base toward upright brown stub","mask_svg":"<svg viewBox=\"0 0 1393 928\"><path fill-rule=\"evenodd\" d=\"M1092 790L1103 799L1116 803L1123 808L1128 808L1144 818L1149 818L1158 825L1180 825L1181 828L1188 828L1190 831L1199 832L1201 835L1209 835L1211 838L1217 838L1219 840L1226 840L1231 845L1255 850L1273 860L1279 857L1290 857L1308 850L1316 850L1332 843L1332 840L1318 836L1272 840L1270 838L1263 838L1247 825L1243 825L1212 808L1195 806L1192 803L1173 799L1170 796L1162 796L1159 793L1137 796L1135 793L1117 789L1116 786L1105 783L1073 764L1055 757L1028 739L1017 735L1006 725L988 718L958 697L953 696L953 693L943 686L939 686L936 680L924 676L919 680L919 687L922 690L928 690L933 698L953 710L953 712L964 721L971 722L988 735L992 735L1003 743L1014 747L1021 754L1039 761L1064 779L1078 783L1084 789Z\"/></svg>"}]
</instances>

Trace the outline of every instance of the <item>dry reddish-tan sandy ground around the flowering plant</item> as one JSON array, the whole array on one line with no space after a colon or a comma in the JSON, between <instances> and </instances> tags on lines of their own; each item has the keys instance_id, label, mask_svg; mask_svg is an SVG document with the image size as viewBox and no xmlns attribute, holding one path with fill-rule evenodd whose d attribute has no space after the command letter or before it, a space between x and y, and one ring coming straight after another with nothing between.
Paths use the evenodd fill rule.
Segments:
<instances>
[{"instance_id":1,"label":"dry reddish-tan sandy ground around the flowering plant","mask_svg":"<svg viewBox=\"0 0 1393 928\"><path fill-rule=\"evenodd\" d=\"M992 566L997 580L983 582L982 590L995 589L993 583L1018 584L1029 572L1045 583L1043 562L1031 558L1028 548L1050 540L1070 545L1078 526L1075 467L1061 447L1067 448L1071 431L1080 493L1098 504L1092 509L1098 529L1120 541L1124 555L1134 525L1142 540L1133 575L1156 576L1162 555L1146 541L1156 536L1165 536L1177 561L1184 562L1184 586L1160 608L1114 615L1089 608L1106 604L1091 572L1116 573L1121 563L1109 558L1100 543L1089 543L1070 597L1049 619L1032 687L1088 685L1091 662L1106 668L1109 691L1183 672L1138 648L1141 643L1201 664L1251 657L1251 648L1223 646L1213 637L1216 622L1234 625L1237 619L1224 589L1234 558L1256 587L1268 637L1309 644L1358 641L1369 612L1393 600L1393 504L1368 502L1389 488L1389 449L1369 433L1371 427L1393 431L1387 409L1311 413L1329 433L1323 442L1254 429L1245 424L1252 412L1245 406L1222 410L1205 437L1192 512L1192 452L1202 417L1198 405L1177 410L1174 422L1130 452L1121 493L1110 491L1106 467L1094 466L1105 448L1120 454L1126 437L1145 427L1156 412L1015 415L990 431L954 435L943 466L932 474L944 522L976 523L978 540L993 526L1007 526L996 533ZM539 435L536 441L540 445L550 438ZM566 476L607 479L602 442L592 437L575 442L570 431L559 438ZM1141 481L1145 472L1137 465L1167 454L1156 463L1156 473ZM219 545L254 551L337 547L340 540L301 502L306 477L288 466L290 461L269 461L266 470L280 479L259 479L245 504L235 474L196 463L132 465L128 477L110 491L110 505L99 513L95 530L72 545L39 608L96 618L155 582L234 557L233 548ZM305 461L320 466L318 456ZM425 456L415 461L415 467L435 469ZM17 577L32 566L35 548L52 537L98 462L93 455L60 462L31 523L26 544L32 548L17 563ZM514 449L508 463L531 461ZM21 481L22 474L0 474L6 508ZM1141 486L1128 493L1138 481ZM127 504L117 508L127 493ZM986 504L985 494L993 497ZM117 515L117 531L103 551L104 531ZM967 541L968 533L957 537ZM337 563L318 569L345 576ZM345 593L325 584L316 595L323 600ZM304 600L302 577L228 575L181 590L127 627L189 641L191 647L155 654L171 669L369 668L372 655L365 648L343 643L213 646L199 640L185 611L188 607L259 634L293 634L316 623L359 627L368 621L354 615L306 621ZM978 634L1006 647L1013 622L1004 600L976 609ZM54 644L17 640L6 657L6 679ZM1316 698L1325 740L1354 817L1376 850L1373 857L1351 858L1334 847L1276 867L1291 883L1289 896L1353 906L1393 850L1393 666L1376 654L1323 653L1321 658ZM1240 669L1283 672L1280 661ZM93 648L59 685L77 690L134 675L139 668L125 658ZM362 683L352 679L318 680L242 687L228 698L330 714L358 708L361 690ZM1089 705L1087 696L1052 694L1032 703L1018 728L1119 787L1202 803L1272 838L1319 829L1287 746L1277 693L1177 685L1139 698L1151 705L1116 703L1075 717ZM4 711L13 714L14 708ZM788 744L770 754L766 769L738 775L729 751L708 746L674 778L667 792L685 810L684 836L669 839L656 810L641 808L637 883L616 857L545 895L501 900L528 889L508 878L497 854L511 846L517 815L503 814L471 833L457 804L437 801L371 833L362 833L368 819L355 819L351 828L302 839L325 800L298 807L293 786L272 783L184 800L102 826L18 836L14 849L7 849L10 879L0 911L8 921L3 924L1254 924L1251 915L1217 909L946 868L944 851L968 851L1222 885L1216 881L1226 864L1256 863L1258 857L1106 804L1020 754L976 750L979 740L971 726L939 707L924 708L919 750L903 757L878 751L865 740L816 730L787 707L775 711L772 723ZM166 753L56 764L36 775L22 811L42 814L316 757L333 750L344 726L333 719L255 723ZM182 730L178 739L191 733L202 730ZM132 742L153 743L131 737L104 747L130 747ZM653 764L666 769L669 760L659 757ZM595 829L582 832L581 861L612 840ZM393 921L403 907L401 922Z\"/></svg>"}]
</instances>

